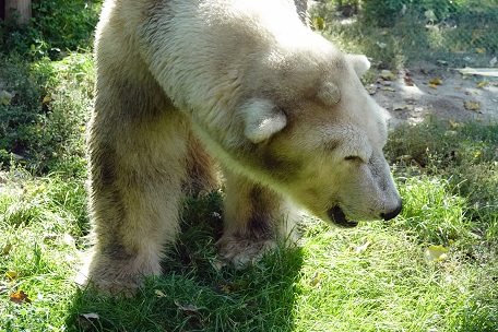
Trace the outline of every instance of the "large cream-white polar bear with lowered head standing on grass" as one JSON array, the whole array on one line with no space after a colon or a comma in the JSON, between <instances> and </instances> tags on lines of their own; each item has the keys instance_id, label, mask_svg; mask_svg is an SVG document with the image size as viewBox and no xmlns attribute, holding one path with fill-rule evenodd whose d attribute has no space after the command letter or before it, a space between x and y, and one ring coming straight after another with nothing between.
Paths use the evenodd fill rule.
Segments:
<instances>
[{"instance_id":1,"label":"large cream-white polar bear with lowered head standing on grass","mask_svg":"<svg viewBox=\"0 0 498 332\"><path fill-rule=\"evenodd\" d=\"M218 247L236 264L287 236L295 206L342 227L401 211L368 60L292 0L107 0L96 63L87 277L105 292L161 274L183 195L217 186L217 163Z\"/></svg>"}]
</instances>

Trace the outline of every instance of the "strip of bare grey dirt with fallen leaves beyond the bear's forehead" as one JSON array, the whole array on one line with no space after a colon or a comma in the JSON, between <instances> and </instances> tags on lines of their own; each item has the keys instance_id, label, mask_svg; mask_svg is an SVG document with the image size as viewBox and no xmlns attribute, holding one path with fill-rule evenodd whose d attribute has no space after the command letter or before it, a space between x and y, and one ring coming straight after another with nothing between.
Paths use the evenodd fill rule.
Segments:
<instances>
[{"instance_id":1,"label":"strip of bare grey dirt with fallen leaves beyond the bear's forehead","mask_svg":"<svg viewBox=\"0 0 498 332\"><path fill-rule=\"evenodd\" d=\"M415 124L430 115L454 122L498 120L498 78L494 76L418 66L381 72L367 90L389 110L392 126Z\"/></svg>"}]
</instances>

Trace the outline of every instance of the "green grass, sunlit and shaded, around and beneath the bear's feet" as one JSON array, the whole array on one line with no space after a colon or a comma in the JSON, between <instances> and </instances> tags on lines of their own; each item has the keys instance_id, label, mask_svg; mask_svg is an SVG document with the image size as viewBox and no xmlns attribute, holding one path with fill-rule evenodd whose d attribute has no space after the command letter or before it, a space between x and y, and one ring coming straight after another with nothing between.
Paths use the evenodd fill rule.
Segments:
<instances>
[{"instance_id":1,"label":"green grass, sunlit and shaded, around and beneath the bear's feet","mask_svg":"<svg viewBox=\"0 0 498 332\"><path fill-rule=\"evenodd\" d=\"M82 182L27 177L22 183L23 189L12 187L0 195L0 244L12 245L0 257L0 331L498 327L496 238L473 233L465 200L438 177L416 176L400 183L406 209L392 223L337 230L307 218L299 247L276 250L242 271L216 268L213 242L218 232L211 212L218 211L220 194L191 201L194 209L186 215L193 213L206 223L188 227L164 262L165 276L149 280L132 299L80 290L71 281L85 248L80 238L85 232ZM425 251L430 244L444 245L448 258L429 261ZM20 276L9 281L8 271ZM28 294L31 305L9 301L8 295L19 289ZM88 321L84 313L99 318Z\"/></svg>"}]
</instances>

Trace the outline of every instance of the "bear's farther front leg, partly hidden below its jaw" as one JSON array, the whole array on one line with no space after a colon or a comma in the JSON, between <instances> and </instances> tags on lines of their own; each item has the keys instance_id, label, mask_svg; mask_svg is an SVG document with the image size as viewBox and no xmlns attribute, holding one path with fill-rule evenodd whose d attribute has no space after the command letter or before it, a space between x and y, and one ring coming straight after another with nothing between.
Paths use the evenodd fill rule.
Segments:
<instances>
[{"instance_id":1,"label":"bear's farther front leg, partly hidden below its jaw","mask_svg":"<svg viewBox=\"0 0 498 332\"><path fill-rule=\"evenodd\" d=\"M230 170L225 175L225 225L220 254L236 266L259 260L277 240L295 239L299 218L292 202Z\"/></svg>"}]
</instances>

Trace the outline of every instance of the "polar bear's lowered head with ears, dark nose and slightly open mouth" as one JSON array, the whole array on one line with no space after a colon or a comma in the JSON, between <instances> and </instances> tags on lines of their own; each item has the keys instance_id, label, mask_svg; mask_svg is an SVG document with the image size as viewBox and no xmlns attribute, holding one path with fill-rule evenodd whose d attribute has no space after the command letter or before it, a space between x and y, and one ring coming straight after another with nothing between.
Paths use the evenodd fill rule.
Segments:
<instances>
[{"instance_id":1,"label":"polar bear's lowered head with ears, dark nose and slightly open mouth","mask_svg":"<svg viewBox=\"0 0 498 332\"><path fill-rule=\"evenodd\" d=\"M245 141L232 156L322 220L393 218L402 204L382 153L387 111L359 80L370 63L327 48L268 55L237 109Z\"/></svg>"}]
</instances>

